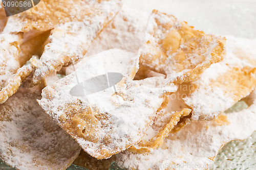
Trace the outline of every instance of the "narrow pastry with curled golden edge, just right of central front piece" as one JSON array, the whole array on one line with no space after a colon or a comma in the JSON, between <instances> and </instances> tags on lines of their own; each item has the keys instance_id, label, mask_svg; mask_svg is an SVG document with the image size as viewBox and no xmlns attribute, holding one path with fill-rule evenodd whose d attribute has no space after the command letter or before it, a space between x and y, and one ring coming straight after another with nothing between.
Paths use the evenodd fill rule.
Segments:
<instances>
[{"instance_id":1,"label":"narrow pastry with curled golden edge, just right of central front piece","mask_svg":"<svg viewBox=\"0 0 256 170\"><path fill-rule=\"evenodd\" d=\"M179 85L176 92L166 96L165 101L158 109L142 140L127 149L127 151L138 154L152 152L161 147L164 143L164 139L170 132L174 130L178 131L177 126L181 126L182 124L182 122L180 123L180 120L190 117L191 109L189 109L182 100L182 96L188 93L189 88L189 83L183 83ZM180 127L179 130L183 127Z\"/></svg>"}]
</instances>

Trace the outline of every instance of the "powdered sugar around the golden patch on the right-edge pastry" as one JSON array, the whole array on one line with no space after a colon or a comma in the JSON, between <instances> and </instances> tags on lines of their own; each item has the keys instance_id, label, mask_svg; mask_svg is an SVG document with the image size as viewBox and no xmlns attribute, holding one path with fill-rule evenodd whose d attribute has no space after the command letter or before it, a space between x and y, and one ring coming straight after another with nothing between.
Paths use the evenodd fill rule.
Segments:
<instances>
[{"instance_id":1,"label":"powdered sugar around the golden patch on the right-edge pastry","mask_svg":"<svg viewBox=\"0 0 256 170\"><path fill-rule=\"evenodd\" d=\"M215 84L218 78L229 74L228 72L233 71L232 69L235 67L241 69L246 67L254 68L253 62L255 63L256 61L255 40L228 36L226 46L227 51L224 60L212 64L206 69L199 79L193 82L198 88L184 98L185 103L193 108L193 119L197 120L202 117L212 119L218 116L242 99L244 95L248 95L254 88L250 89L248 87L247 93L241 94L241 96L237 96L237 99L234 99L232 91L228 92L226 90L231 88L228 87L229 84L226 85L226 89ZM221 81L224 86L226 82L223 82L224 80ZM229 80L226 81L228 82Z\"/></svg>"}]
</instances>

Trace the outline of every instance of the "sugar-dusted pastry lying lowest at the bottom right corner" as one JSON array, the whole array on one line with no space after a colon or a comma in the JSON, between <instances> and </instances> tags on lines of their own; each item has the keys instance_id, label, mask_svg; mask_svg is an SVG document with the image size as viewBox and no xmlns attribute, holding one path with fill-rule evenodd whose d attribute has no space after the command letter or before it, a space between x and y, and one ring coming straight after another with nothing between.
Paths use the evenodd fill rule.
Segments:
<instances>
[{"instance_id":1,"label":"sugar-dusted pastry lying lowest at the bottom right corner","mask_svg":"<svg viewBox=\"0 0 256 170\"><path fill-rule=\"evenodd\" d=\"M116 161L128 169L207 169L225 143L246 139L256 130L255 91L251 97L253 104L246 109L224 113L219 120L193 122L169 134L161 148L146 154L125 151Z\"/></svg>"}]
</instances>

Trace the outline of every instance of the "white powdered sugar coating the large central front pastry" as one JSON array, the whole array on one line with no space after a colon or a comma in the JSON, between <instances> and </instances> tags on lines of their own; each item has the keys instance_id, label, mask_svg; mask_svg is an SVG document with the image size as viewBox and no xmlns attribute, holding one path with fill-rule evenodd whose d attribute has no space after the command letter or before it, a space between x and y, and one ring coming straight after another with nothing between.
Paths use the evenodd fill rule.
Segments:
<instances>
[{"instance_id":1,"label":"white powdered sugar coating the large central front pastry","mask_svg":"<svg viewBox=\"0 0 256 170\"><path fill-rule=\"evenodd\" d=\"M60 126L59 118L68 114L65 109L60 109L63 105L79 100L81 109L88 107L89 104L97 108L97 122L101 126L101 128L94 128L97 133L72 135L84 151L98 159L108 158L138 142L162 104L164 99L161 96L176 90L174 86L151 88L132 81L133 77L129 78L129 74L130 70L138 66L137 53L135 58L137 58L137 63L131 63L134 61L131 53L114 49L99 53L76 68L76 74L80 78L79 82L105 74L105 72L121 73L124 77L120 83L116 84L117 93L113 88L109 88L87 95L89 103L85 98L71 96L69 91L77 84L75 72L60 79L52 87L46 87L42 92L40 106L58 121ZM49 95L50 91L51 95ZM80 128L84 125L77 126ZM63 126L62 128L65 129ZM88 140L87 136L95 137L97 141ZM106 137L108 137L107 141ZM102 155L103 150L108 151L108 154Z\"/></svg>"}]
</instances>

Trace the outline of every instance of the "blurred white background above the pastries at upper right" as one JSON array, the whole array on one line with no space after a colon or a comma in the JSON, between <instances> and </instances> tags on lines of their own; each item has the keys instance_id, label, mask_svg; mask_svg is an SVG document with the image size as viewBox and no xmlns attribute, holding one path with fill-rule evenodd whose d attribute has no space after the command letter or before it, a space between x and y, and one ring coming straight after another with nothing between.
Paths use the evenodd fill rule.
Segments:
<instances>
[{"instance_id":1,"label":"blurred white background above the pastries at upper right","mask_svg":"<svg viewBox=\"0 0 256 170\"><path fill-rule=\"evenodd\" d=\"M206 33L256 38L255 0L124 0L124 4L173 14Z\"/></svg>"}]
</instances>

